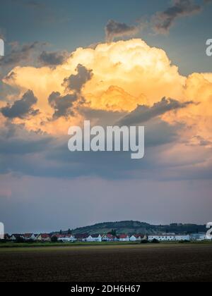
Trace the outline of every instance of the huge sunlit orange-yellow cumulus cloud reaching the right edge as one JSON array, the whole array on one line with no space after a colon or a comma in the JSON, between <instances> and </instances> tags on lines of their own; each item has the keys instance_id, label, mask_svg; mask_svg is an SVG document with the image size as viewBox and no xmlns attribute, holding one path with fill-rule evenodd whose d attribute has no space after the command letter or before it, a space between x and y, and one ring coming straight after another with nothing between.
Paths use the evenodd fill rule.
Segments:
<instances>
[{"instance_id":1,"label":"huge sunlit orange-yellow cumulus cloud reaching the right edge","mask_svg":"<svg viewBox=\"0 0 212 296\"><path fill-rule=\"evenodd\" d=\"M69 120L58 118L57 121L49 121L54 113L49 106L49 94L67 94L64 80L76 75L79 64L93 72L82 90L86 107L131 112L138 104L153 106L163 97L181 102L193 101L194 104L189 104L185 109L166 113L163 119L189 126L184 133L186 136L189 134L190 138L197 135L211 139L212 73L194 73L186 78L179 74L177 66L172 65L165 51L149 47L141 39L98 44L94 49L78 48L64 64L56 68L14 68L12 78L9 78L9 74L4 82L18 87L20 92L33 90L38 99L40 114L25 122L28 128L39 127L50 133L66 133L72 122L80 123L83 120L76 111Z\"/></svg>"}]
</instances>

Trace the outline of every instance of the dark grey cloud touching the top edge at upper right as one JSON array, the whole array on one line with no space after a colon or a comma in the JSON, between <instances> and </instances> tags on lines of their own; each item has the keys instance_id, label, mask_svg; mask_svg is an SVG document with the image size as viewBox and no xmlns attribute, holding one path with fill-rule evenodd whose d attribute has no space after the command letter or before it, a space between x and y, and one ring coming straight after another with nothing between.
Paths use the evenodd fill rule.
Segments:
<instances>
[{"instance_id":1,"label":"dark grey cloud touching the top edge at upper right","mask_svg":"<svg viewBox=\"0 0 212 296\"><path fill-rule=\"evenodd\" d=\"M153 29L155 32L166 33L177 18L192 16L194 13L199 13L201 9L201 6L195 4L193 0L174 0L172 6L153 16Z\"/></svg>"}]
</instances>

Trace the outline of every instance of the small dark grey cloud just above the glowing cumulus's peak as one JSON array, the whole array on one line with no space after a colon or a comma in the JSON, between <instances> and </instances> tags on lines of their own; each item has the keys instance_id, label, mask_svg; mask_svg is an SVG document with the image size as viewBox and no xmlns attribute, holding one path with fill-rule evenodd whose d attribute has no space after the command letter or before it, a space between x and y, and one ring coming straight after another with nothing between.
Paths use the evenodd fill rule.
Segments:
<instances>
[{"instance_id":1,"label":"small dark grey cloud just above the glowing cumulus's peak","mask_svg":"<svg viewBox=\"0 0 212 296\"><path fill-rule=\"evenodd\" d=\"M126 23L118 23L114 20L109 20L105 27L107 42L112 42L114 38L134 36L139 32L139 27L129 26Z\"/></svg>"}]
</instances>

